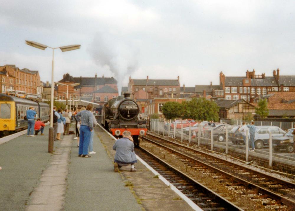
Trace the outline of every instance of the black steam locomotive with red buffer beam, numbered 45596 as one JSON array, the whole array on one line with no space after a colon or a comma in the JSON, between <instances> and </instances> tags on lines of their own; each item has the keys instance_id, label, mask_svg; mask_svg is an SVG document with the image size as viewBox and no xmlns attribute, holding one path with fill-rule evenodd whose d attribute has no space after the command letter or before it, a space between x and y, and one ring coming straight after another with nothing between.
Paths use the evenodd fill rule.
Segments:
<instances>
[{"instance_id":1,"label":"black steam locomotive with red buffer beam, numbered 45596","mask_svg":"<svg viewBox=\"0 0 295 211\"><path fill-rule=\"evenodd\" d=\"M129 96L129 93L125 93L104 104L101 125L117 137L121 137L125 130L130 131L134 145L138 146L138 137L144 136L147 131L146 120L139 119L139 106Z\"/></svg>"}]
</instances>

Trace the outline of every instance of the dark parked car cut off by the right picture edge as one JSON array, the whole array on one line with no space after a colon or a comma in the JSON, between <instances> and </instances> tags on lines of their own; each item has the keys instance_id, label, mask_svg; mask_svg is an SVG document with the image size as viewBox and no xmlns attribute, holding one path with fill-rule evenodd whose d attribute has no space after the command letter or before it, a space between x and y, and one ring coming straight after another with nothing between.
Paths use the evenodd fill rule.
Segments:
<instances>
[{"instance_id":1,"label":"dark parked car cut off by the right picture edge","mask_svg":"<svg viewBox=\"0 0 295 211\"><path fill-rule=\"evenodd\" d=\"M294 128L289 129L286 134L284 134L280 138L274 138L273 139L273 149L274 150L280 150L284 149L287 152L295 152L294 151L294 141L293 141L293 134Z\"/></svg>"}]
</instances>

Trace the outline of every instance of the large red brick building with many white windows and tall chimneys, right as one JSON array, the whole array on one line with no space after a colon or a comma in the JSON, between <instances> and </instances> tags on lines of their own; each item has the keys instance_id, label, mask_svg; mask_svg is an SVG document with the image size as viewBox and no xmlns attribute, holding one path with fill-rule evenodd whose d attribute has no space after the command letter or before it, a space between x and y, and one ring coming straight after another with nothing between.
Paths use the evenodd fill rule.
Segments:
<instances>
[{"instance_id":1,"label":"large red brick building with many white windows and tall chimneys, right","mask_svg":"<svg viewBox=\"0 0 295 211\"><path fill-rule=\"evenodd\" d=\"M255 70L246 72L245 77L229 77L219 74L219 85L224 90L226 100L244 99L253 102L260 95L269 92L295 91L295 75L280 75L280 70L273 70L273 76L255 75Z\"/></svg>"}]
</instances>

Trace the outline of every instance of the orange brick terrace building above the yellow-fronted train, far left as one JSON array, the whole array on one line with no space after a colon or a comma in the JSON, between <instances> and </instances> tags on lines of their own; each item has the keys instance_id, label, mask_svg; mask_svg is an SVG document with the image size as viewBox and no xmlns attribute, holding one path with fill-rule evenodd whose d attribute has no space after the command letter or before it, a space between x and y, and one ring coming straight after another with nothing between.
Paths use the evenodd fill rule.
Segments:
<instances>
[{"instance_id":1,"label":"orange brick terrace building above the yellow-fronted train, far left","mask_svg":"<svg viewBox=\"0 0 295 211\"><path fill-rule=\"evenodd\" d=\"M39 71L19 69L15 65L0 66L1 91L24 91L27 94L41 95L42 84Z\"/></svg>"}]
</instances>

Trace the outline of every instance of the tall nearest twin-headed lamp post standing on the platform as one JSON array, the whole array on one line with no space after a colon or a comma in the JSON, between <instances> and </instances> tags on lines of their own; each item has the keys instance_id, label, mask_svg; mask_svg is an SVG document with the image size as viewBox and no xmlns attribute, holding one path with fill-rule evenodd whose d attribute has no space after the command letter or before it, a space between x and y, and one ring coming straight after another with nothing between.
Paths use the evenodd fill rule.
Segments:
<instances>
[{"instance_id":1,"label":"tall nearest twin-headed lamp post standing on the platform","mask_svg":"<svg viewBox=\"0 0 295 211\"><path fill-rule=\"evenodd\" d=\"M45 50L47 45L43 45L37 42L29 41L26 40L26 44L30 45L35 48L39 48L41 50ZM81 45L67 45L67 46L62 46L62 47L49 47L52 49L52 69L51 69L51 98L50 98L50 128L49 128L49 136L48 136L48 152L53 151L53 139L54 139L54 129L53 129L53 100L54 100L54 81L53 81L53 76L54 76L54 49L59 48L62 52L64 51L71 51L71 50L76 50L79 49Z\"/></svg>"}]
</instances>

